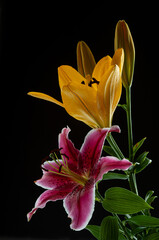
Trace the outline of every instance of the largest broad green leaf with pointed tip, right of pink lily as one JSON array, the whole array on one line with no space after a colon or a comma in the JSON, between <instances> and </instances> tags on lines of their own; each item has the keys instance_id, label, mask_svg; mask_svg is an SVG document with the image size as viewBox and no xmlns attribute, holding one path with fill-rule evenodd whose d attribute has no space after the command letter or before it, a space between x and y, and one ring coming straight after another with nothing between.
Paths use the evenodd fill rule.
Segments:
<instances>
[{"instance_id":1,"label":"largest broad green leaf with pointed tip, right of pink lily","mask_svg":"<svg viewBox=\"0 0 159 240\"><path fill-rule=\"evenodd\" d=\"M103 207L117 214L133 214L152 208L143 198L120 187L112 187L105 192Z\"/></svg>"}]
</instances>

